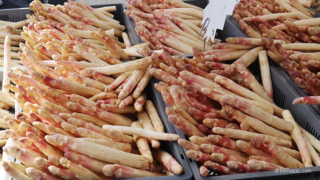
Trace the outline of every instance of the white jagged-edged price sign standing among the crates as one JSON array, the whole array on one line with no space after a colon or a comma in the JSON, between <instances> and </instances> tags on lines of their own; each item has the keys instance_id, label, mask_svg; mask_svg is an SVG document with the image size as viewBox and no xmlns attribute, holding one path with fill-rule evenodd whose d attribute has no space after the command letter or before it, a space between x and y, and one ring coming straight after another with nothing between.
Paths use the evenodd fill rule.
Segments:
<instances>
[{"instance_id":1,"label":"white jagged-edged price sign standing among the crates","mask_svg":"<svg viewBox=\"0 0 320 180\"><path fill-rule=\"evenodd\" d=\"M205 31L204 38L207 37L213 41L217 29L223 30L226 16L231 15L236 4L240 0L210 0L204 8L204 17L202 19L202 30ZM208 19L208 20L207 20Z\"/></svg>"}]
</instances>

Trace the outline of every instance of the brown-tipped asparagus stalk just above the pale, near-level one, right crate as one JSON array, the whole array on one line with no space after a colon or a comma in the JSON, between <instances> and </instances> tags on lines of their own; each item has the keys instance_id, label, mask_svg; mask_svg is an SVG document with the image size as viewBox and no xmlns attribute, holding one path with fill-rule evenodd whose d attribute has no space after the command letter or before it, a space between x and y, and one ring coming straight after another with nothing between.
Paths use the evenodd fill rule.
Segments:
<instances>
[{"instance_id":1,"label":"brown-tipped asparagus stalk just above the pale, near-level one, right crate","mask_svg":"<svg viewBox=\"0 0 320 180\"><path fill-rule=\"evenodd\" d=\"M263 123L262 121L255 119L251 116L248 116L239 110L234 109L232 106L226 105L225 110L229 112L232 118L236 119L238 122L244 122L248 124L259 133L275 136L275 137L282 138L289 141L293 140L290 135L287 135L273 127L270 127L265 123Z\"/></svg>"}]
</instances>

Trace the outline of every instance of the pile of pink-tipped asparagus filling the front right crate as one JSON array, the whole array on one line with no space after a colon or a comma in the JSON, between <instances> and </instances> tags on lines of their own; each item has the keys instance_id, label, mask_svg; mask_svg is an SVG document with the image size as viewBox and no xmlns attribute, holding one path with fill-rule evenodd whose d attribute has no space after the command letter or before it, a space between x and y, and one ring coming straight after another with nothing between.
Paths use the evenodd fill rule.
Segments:
<instances>
[{"instance_id":1,"label":"pile of pink-tipped asparagus filling the front right crate","mask_svg":"<svg viewBox=\"0 0 320 180\"><path fill-rule=\"evenodd\" d=\"M284 43L270 38L272 45ZM320 165L320 141L273 102L264 40L228 38L215 50L193 48L193 59L151 55L150 73L161 81L154 86L170 106L168 120L189 137L178 143L199 162L204 177L210 171L225 175ZM257 59L263 86L247 69ZM223 62L230 60L236 61Z\"/></svg>"}]
</instances>

